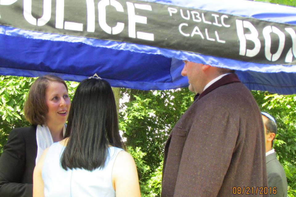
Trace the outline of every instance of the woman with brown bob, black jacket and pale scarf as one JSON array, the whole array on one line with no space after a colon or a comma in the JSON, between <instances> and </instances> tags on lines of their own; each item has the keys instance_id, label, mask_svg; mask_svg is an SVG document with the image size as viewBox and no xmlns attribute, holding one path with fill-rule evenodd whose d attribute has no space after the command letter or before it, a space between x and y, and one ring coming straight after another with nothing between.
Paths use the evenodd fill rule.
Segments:
<instances>
[{"instance_id":1,"label":"woman with brown bob, black jacket and pale scarf","mask_svg":"<svg viewBox=\"0 0 296 197\"><path fill-rule=\"evenodd\" d=\"M61 78L44 75L32 84L24 105L31 126L13 129L0 157L1 197L33 195L34 167L47 147L64 138L70 105Z\"/></svg>"}]
</instances>

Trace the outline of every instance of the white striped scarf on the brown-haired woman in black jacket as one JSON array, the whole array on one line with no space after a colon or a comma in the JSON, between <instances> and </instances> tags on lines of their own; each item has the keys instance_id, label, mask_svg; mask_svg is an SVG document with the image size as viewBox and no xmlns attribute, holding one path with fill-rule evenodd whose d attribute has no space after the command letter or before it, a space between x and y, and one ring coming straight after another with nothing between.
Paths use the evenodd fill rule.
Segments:
<instances>
[{"instance_id":1,"label":"white striped scarf on the brown-haired woman in black jacket","mask_svg":"<svg viewBox=\"0 0 296 197\"><path fill-rule=\"evenodd\" d=\"M63 136L65 135L66 127L67 127L67 125L65 123L64 127L63 127ZM53 139L52 139L51 133L49 131L49 128L45 124L37 125L36 140L37 140L37 157L36 157L36 164L37 164L43 151L47 147L50 147L51 144L53 144Z\"/></svg>"}]
</instances>

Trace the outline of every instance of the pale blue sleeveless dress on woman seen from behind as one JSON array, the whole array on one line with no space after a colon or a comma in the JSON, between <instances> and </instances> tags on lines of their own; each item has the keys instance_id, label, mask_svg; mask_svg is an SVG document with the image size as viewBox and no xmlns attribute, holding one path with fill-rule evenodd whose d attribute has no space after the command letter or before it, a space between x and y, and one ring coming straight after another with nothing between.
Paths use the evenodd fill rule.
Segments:
<instances>
[{"instance_id":1,"label":"pale blue sleeveless dress on woman seen from behind","mask_svg":"<svg viewBox=\"0 0 296 197\"><path fill-rule=\"evenodd\" d=\"M105 167L93 171L64 170L60 165L64 149L56 142L47 151L42 167L45 197L115 197L111 175L116 156L123 151L121 148L109 147Z\"/></svg>"}]
</instances>

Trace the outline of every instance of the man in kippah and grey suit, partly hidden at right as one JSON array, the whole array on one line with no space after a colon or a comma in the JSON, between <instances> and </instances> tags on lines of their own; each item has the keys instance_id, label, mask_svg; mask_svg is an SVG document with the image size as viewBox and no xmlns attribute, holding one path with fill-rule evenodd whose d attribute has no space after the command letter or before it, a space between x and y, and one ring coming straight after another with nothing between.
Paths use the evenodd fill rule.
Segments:
<instances>
[{"instance_id":1,"label":"man in kippah and grey suit, partly hidden at right","mask_svg":"<svg viewBox=\"0 0 296 197\"><path fill-rule=\"evenodd\" d=\"M277 159L276 152L272 148L273 140L278 130L277 123L271 115L265 112L262 112L262 119L265 130L265 155L268 187L271 187L271 189L275 189L276 187L277 191L277 194L270 196L286 197L288 190L286 174L282 165Z\"/></svg>"}]
</instances>

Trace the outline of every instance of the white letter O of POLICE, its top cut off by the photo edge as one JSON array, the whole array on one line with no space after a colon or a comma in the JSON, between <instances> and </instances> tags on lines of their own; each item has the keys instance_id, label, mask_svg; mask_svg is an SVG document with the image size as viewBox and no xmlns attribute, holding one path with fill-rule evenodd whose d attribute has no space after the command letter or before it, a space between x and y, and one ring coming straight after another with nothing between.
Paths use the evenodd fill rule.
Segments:
<instances>
[{"instance_id":1,"label":"white letter O of POLICE, its top cut off by the photo edge","mask_svg":"<svg viewBox=\"0 0 296 197\"><path fill-rule=\"evenodd\" d=\"M24 17L32 25L45 25L51 17L51 0L43 0L43 16L38 20L32 16L32 0L24 0Z\"/></svg>"}]
</instances>

